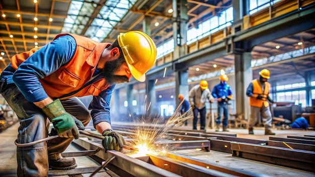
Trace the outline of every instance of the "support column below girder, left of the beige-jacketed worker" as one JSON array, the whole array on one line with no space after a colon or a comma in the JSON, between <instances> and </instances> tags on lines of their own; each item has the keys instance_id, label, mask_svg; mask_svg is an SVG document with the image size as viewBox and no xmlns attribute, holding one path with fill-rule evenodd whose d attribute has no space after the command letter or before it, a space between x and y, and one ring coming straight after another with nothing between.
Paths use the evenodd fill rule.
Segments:
<instances>
[{"instance_id":1,"label":"support column below girder, left of the beige-jacketed worker","mask_svg":"<svg viewBox=\"0 0 315 177\"><path fill-rule=\"evenodd\" d=\"M181 104L178 99L179 94L184 95L184 99L188 100L189 85L188 85L188 69L184 71L175 72L175 98L176 98L176 108Z\"/></svg>"}]
</instances>

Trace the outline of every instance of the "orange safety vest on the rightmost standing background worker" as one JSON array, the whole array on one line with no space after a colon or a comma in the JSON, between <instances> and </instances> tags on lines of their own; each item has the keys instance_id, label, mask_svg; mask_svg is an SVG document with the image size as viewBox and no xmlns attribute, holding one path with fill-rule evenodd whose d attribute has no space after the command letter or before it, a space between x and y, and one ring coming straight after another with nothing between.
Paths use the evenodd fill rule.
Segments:
<instances>
[{"instance_id":1,"label":"orange safety vest on the rightmost standing background worker","mask_svg":"<svg viewBox=\"0 0 315 177\"><path fill-rule=\"evenodd\" d=\"M264 104L265 107L268 107L269 103L267 102L267 97L269 95L270 83L265 82L264 92L257 79L252 80L252 83L253 83L253 94L260 95L264 98L263 100L259 100L259 99L256 99L256 97L250 97L250 105L261 108Z\"/></svg>"}]
</instances>

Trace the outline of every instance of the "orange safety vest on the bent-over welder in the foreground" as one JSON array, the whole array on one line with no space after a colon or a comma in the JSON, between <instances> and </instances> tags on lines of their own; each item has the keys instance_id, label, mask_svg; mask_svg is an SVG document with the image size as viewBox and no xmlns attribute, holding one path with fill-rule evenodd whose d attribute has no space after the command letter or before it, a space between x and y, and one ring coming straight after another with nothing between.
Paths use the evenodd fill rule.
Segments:
<instances>
[{"instance_id":1,"label":"orange safety vest on the bent-over welder in the foreground","mask_svg":"<svg viewBox=\"0 0 315 177\"><path fill-rule=\"evenodd\" d=\"M93 76L104 49L111 45L110 43L99 43L83 36L67 33L59 34L54 39L64 35L70 35L75 39L76 50L72 59L50 75L39 78L45 92L53 99L72 93L88 82ZM13 56L11 60L12 67L17 69L22 62L38 49L39 47L33 48L30 51ZM105 78L102 78L69 97L98 96L109 86L110 84L106 82Z\"/></svg>"}]
</instances>

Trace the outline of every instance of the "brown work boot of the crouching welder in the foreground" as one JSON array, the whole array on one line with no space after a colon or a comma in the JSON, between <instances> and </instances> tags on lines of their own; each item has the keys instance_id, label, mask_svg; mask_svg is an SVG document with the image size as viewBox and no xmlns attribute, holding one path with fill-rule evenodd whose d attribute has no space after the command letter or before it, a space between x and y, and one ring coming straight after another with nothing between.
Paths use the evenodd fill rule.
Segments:
<instances>
[{"instance_id":1,"label":"brown work boot of the crouching welder in the foreground","mask_svg":"<svg viewBox=\"0 0 315 177\"><path fill-rule=\"evenodd\" d=\"M75 163L74 158L63 158L60 154L57 159L49 159L49 168L52 169L72 169L75 168L77 165Z\"/></svg>"}]
</instances>

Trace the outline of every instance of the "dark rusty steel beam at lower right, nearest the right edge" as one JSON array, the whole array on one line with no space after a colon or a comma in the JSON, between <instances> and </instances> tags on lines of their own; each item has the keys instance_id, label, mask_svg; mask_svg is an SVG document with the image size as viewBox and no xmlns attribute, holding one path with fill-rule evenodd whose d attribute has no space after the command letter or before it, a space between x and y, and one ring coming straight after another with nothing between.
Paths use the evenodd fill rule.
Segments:
<instances>
[{"instance_id":1,"label":"dark rusty steel beam at lower right, nearest the right edge","mask_svg":"<svg viewBox=\"0 0 315 177\"><path fill-rule=\"evenodd\" d=\"M315 152L282 147L230 142L232 156L315 171Z\"/></svg>"}]
</instances>

